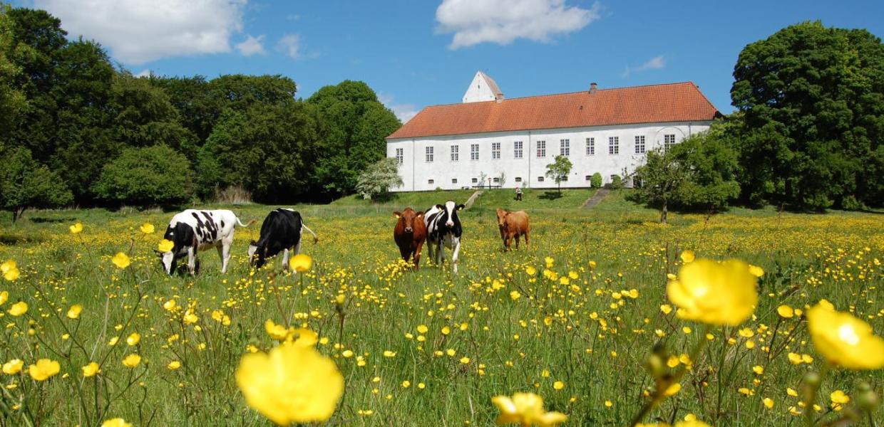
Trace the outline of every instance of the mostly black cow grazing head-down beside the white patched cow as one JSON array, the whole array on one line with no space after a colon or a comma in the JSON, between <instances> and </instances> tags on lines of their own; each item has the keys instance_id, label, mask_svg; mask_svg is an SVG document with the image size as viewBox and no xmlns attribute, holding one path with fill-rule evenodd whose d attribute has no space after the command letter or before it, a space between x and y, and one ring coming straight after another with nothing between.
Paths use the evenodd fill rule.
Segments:
<instances>
[{"instance_id":1,"label":"mostly black cow grazing head-down beside the white patched cow","mask_svg":"<svg viewBox=\"0 0 884 427\"><path fill-rule=\"evenodd\" d=\"M313 235L313 243L319 241L316 233L304 224L301 213L287 208L268 213L261 224L261 237L248 245L248 258L252 260L252 266L261 268L266 258L282 252L282 266L288 268L289 250L293 248L292 255L301 252L301 229Z\"/></svg>"}]
</instances>

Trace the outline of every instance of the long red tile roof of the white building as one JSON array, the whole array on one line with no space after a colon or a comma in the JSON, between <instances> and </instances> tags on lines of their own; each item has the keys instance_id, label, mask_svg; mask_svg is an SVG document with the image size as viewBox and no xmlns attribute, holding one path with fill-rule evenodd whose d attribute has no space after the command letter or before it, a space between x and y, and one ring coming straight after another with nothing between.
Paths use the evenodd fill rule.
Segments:
<instances>
[{"instance_id":1,"label":"long red tile roof of the white building","mask_svg":"<svg viewBox=\"0 0 884 427\"><path fill-rule=\"evenodd\" d=\"M611 124L694 122L719 114L691 82L598 89L504 101L434 105L387 139Z\"/></svg>"}]
</instances>

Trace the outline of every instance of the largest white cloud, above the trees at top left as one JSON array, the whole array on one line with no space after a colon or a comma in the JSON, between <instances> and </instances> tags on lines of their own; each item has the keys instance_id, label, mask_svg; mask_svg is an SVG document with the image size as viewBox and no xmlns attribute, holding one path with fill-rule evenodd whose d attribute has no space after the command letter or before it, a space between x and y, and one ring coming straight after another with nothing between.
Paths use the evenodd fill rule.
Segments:
<instances>
[{"instance_id":1,"label":"largest white cloud, above the trees at top left","mask_svg":"<svg viewBox=\"0 0 884 427\"><path fill-rule=\"evenodd\" d=\"M230 51L248 0L34 0L72 36L95 39L125 64Z\"/></svg>"}]
</instances>

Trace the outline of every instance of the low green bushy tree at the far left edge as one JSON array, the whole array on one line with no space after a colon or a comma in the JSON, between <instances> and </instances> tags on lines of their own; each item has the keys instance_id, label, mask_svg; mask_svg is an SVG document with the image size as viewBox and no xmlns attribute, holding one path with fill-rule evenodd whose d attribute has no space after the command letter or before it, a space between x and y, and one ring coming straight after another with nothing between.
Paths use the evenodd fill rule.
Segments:
<instances>
[{"instance_id":1,"label":"low green bushy tree at the far left edge","mask_svg":"<svg viewBox=\"0 0 884 427\"><path fill-rule=\"evenodd\" d=\"M28 207L55 207L73 196L58 175L31 157L24 147L0 148L0 207L16 221Z\"/></svg>"}]
</instances>

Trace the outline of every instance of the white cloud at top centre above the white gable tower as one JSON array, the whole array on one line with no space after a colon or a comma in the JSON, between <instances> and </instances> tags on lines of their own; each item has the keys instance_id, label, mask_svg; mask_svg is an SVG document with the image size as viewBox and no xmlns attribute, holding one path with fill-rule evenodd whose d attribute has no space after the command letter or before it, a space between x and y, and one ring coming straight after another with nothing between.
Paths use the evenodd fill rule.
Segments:
<instances>
[{"instance_id":1,"label":"white cloud at top centre above the white gable tower","mask_svg":"<svg viewBox=\"0 0 884 427\"><path fill-rule=\"evenodd\" d=\"M590 9L565 0L442 0L436 9L438 33L453 33L450 49L478 43L509 44L515 39L550 41L552 35L582 29L600 17L601 4Z\"/></svg>"}]
</instances>

